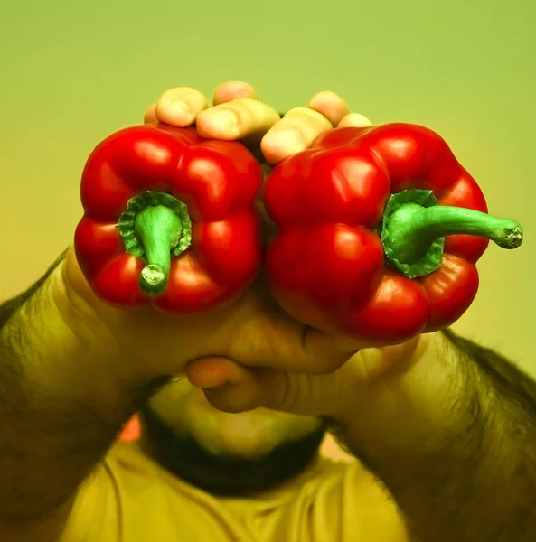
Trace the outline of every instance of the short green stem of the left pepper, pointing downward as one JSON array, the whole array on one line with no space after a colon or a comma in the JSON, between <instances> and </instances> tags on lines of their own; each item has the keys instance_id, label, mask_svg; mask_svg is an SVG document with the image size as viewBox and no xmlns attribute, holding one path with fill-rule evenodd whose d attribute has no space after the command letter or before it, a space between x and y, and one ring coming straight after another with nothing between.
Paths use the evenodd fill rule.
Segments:
<instances>
[{"instance_id":1,"label":"short green stem of the left pepper, pointing downward","mask_svg":"<svg viewBox=\"0 0 536 542\"><path fill-rule=\"evenodd\" d=\"M134 230L147 261L139 285L148 295L162 294L169 278L171 250L183 232L182 220L165 205L149 205L137 213Z\"/></svg>"}]
</instances>

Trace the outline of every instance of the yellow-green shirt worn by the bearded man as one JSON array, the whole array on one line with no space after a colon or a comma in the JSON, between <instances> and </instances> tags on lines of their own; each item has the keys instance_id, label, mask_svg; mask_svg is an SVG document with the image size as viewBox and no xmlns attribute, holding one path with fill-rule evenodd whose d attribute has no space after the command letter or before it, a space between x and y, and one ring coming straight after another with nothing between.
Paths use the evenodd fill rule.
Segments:
<instances>
[{"instance_id":1,"label":"yellow-green shirt worn by the bearded man","mask_svg":"<svg viewBox=\"0 0 536 542\"><path fill-rule=\"evenodd\" d=\"M405 542L400 514L360 463L319 458L248 499L214 497L118 443L81 488L61 542Z\"/></svg>"}]
</instances>

